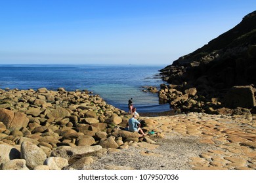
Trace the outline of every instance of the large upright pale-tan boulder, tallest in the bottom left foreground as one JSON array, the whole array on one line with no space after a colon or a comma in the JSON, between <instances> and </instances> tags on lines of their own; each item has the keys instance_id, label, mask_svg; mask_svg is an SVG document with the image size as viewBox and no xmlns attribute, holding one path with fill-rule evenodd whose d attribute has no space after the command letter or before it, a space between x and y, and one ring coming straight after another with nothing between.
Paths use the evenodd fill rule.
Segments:
<instances>
[{"instance_id":1,"label":"large upright pale-tan boulder, tallest in the bottom left foreground","mask_svg":"<svg viewBox=\"0 0 256 183\"><path fill-rule=\"evenodd\" d=\"M26 166L29 169L33 169L38 165L43 165L43 162L47 158L47 155L41 148L28 141L22 142L20 156L22 159L26 160Z\"/></svg>"}]
</instances>

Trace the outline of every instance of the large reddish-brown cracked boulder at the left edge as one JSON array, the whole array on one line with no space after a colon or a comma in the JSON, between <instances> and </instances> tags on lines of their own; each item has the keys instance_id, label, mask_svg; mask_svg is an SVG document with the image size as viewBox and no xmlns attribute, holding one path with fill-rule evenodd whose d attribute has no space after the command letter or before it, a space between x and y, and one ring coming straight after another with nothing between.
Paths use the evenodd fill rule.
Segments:
<instances>
[{"instance_id":1,"label":"large reddish-brown cracked boulder at the left edge","mask_svg":"<svg viewBox=\"0 0 256 183\"><path fill-rule=\"evenodd\" d=\"M0 121L5 124L10 131L27 127L29 119L26 114L14 112L5 108L0 108Z\"/></svg>"}]
</instances>

